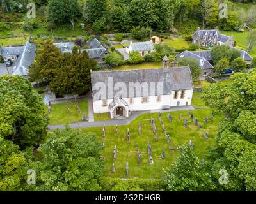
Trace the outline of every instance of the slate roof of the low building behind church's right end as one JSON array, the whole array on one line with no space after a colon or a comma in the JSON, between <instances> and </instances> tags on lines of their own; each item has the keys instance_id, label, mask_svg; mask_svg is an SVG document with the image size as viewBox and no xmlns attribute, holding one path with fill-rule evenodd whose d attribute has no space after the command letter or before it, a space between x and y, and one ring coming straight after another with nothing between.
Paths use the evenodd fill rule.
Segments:
<instances>
[{"instance_id":1,"label":"slate roof of the low building behind church's right end","mask_svg":"<svg viewBox=\"0 0 256 204\"><path fill-rule=\"evenodd\" d=\"M214 69L208 60L211 60L211 51L189 52L184 51L176 56L177 58L191 57L200 63L202 69Z\"/></svg>"}]
</instances>

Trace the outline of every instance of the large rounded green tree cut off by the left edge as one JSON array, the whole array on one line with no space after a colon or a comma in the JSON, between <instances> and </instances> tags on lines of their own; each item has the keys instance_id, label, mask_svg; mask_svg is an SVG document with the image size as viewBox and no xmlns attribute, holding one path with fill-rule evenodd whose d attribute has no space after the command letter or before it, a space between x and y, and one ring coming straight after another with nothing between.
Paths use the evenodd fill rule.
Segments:
<instances>
[{"instance_id":1,"label":"large rounded green tree cut off by the left edge","mask_svg":"<svg viewBox=\"0 0 256 204\"><path fill-rule=\"evenodd\" d=\"M21 149L44 138L48 121L41 96L20 76L0 78L0 135Z\"/></svg>"}]
</instances>

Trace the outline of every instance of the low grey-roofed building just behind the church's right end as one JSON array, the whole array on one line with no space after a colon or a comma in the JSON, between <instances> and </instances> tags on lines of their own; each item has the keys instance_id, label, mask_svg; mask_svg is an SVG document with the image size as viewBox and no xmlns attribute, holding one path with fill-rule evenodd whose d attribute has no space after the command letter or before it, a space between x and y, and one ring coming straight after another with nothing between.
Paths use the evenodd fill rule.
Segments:
<instances>
[{"instance_id":1,"label":"low grey-roofed building just behind the church's right end","mask_svg":"<svg viewBox=\"0 0 256 204\"><path fill-rule=\"evenodd\" d=\"M177 59L182 59L184 57L196 59L200 63L200 67L203 70L203 76L212 75L215 71L214 67L210 63L212 61L210 50L198 52L184 51L176 56Z\"/></svg>"}]
</instances>

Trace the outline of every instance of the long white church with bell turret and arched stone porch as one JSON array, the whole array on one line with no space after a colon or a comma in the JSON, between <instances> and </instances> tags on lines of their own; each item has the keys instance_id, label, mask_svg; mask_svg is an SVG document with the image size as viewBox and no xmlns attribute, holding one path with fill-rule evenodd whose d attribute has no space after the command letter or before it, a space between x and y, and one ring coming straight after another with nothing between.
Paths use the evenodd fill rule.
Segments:
<instances>
[{"instance_id":1,"label":"long white church with bell turret and arched stone porch","mask_svg":"<svg viewBox=\"0 0 256 204\"><path fill-rule=\"evenodd\" d=\"M109 113L111 119L129 117L131 112L189 106L193 80L188 67L126 71L92 71L94 113Z\"/></svg>"}]
</instances>

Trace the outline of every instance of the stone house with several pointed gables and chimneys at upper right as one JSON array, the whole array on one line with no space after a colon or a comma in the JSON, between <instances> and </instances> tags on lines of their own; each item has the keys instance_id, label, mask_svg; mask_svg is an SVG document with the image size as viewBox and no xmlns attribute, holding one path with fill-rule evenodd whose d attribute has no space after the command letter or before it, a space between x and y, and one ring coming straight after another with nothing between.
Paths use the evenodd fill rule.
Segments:
<instances>
[{"instance_id":1,"label":"stone house with several pointed gables and chimneys at upper right","mask_svg":"<svg viewBox=\"0 0 256 204\"><path fill-rule=\"evenodd\" d=\"M214 45L229 45L234 47L234 37L220 34L218 27L214 30L200 30L198 27L197 31L193 34L193 43L200 47L212 48Z\"/></svg>"}]
</instances>

